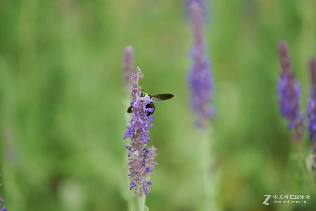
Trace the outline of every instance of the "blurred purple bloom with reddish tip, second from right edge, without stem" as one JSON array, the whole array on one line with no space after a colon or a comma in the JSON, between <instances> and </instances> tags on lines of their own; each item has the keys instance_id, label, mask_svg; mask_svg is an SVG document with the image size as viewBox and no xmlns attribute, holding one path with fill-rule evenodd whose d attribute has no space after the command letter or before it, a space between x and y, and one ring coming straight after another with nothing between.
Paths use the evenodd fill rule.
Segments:
<instances>
[{"instance_id":1,"label":"blurred purple bloom with reddish tip, second from right edge, without stem","mask_svg":"<svg viewBox=\"0 0 316 211\"><path fill-rule=\"evenodd\" d=\"M288 129L294 130L293 139L301 140L304 118L300 114L300 83L294 80L292 64L286 43L278 43L279 58L282 72L278 82L279 105L282 116L289 121Z\"/></svg>"}]
</instances>

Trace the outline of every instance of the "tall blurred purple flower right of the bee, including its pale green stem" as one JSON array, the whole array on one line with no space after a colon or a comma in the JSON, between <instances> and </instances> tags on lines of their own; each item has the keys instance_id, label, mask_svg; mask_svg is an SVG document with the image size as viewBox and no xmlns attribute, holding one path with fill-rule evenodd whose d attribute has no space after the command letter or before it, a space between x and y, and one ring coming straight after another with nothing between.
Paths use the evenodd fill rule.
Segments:
<instances>
[{"instance_id":1,"label":"tall blurred purple flower right of the bee, including its pale green stem","mask_svg":"<svg viewBox=\"0 0 316 211\"><path fill-rule=\"evenodd\" d=\"M192 1L189 6L191 15L192 34L194 44L191 50L192 65L189 70L188 83L191 92L191 107L194 112L196 126L198 127L197 140L200 149L198 168L201 172L202 202L201 210L213 211L214 204L214 175L212 169L211 156L211 124L210 119L215 114L212 104L214 97L213 74L211 72L211 62L207 53L205 43L204 12L199 1Z\"/></svg>"}]
</instances>

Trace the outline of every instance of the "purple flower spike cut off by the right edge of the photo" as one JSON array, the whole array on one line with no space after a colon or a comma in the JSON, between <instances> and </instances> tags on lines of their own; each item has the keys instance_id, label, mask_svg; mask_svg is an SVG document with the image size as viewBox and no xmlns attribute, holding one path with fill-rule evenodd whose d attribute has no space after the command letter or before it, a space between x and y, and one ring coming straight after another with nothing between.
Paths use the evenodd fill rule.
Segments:
<instances>
[{"instance_id":1,"label":"purple flower spike cut off by the right edge of the photo","mask_svg":"<svg viewBox=\"0 0 316 211\"><path fill-rule=\"evenodd\" d=\"M313 142L313 154L316 153L316 61L312 59L310 62L310 70L312 76L311 97L308 98L308 132L309 139ZM314 157L316 161L316 157Z\"/></svg>"}]
</instances>

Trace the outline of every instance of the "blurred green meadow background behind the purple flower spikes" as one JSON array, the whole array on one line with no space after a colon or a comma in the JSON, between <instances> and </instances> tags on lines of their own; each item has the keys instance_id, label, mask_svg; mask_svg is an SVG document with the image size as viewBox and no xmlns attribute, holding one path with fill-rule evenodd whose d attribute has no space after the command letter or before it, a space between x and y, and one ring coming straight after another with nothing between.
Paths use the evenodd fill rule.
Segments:
<instances>
[{"instance_id":1,"label":"blurred green meadow background behind the purple flower spikes","mask_svg":"<svg viewBox=\"0 0 316 211\"><path fill-rule=\"evenodd\" d=\"M315 210L276 94L277 41L284 39L306 111L315 8L315 0L207 2L217 210ZM2 205L9 211L127 210L122 57L132 45L143 90L175 96L157 104L153 115L149 146L158 148L159 165L146 205L198 210L201 149L186 83L191 44L180 0L0 0ZM307 135L304 143L309 152ZM311 198L304 205L263 205L265 194Z\"/></svg>"}]
</instances>

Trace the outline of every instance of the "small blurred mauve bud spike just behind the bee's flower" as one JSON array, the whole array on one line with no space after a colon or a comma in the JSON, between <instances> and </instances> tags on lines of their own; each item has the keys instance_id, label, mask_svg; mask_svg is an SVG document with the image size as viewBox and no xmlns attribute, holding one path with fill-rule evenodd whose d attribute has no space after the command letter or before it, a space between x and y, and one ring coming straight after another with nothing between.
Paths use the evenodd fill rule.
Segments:
<instances>
[{"instance_id":1,"label":"small blurred mauve bud spike just behind the bee's flower","mask_svg":"<svg viewBox=\"0 0 316 211\"><path fill-rule=\"evenodd\" d=\"M128 91L131 86L131 75L134 72L134 49L131 46L126 46L124 49L123 70L123 82L125 90Z\"/></svg>"}]
</instances>

